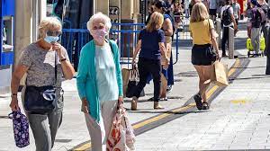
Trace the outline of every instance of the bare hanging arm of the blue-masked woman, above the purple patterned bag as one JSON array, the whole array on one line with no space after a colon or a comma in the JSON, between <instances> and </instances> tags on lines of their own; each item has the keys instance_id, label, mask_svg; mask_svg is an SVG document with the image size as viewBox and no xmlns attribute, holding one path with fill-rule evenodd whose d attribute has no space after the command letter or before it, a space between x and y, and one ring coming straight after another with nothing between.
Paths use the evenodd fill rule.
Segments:
<instances>
[{"instance_id":1,"label":"bare hanging arm of the blue-masked woman, above the purple patterned bag","mask_svg":"<svg viewBox=\"0 0 270 151\"><path fill-rule=\"evenodd\" d=\"M20 81L28 69L29 69L29 67L26 67L23 65L18 65L17 67L15 67L13 77L12 77L12 82L11 82L12 102L9 105L11 107L12 111L20 110L19 105L18 105L17 93L18 93L18 89L20 86Z\"/></svg>"}]
</instances>

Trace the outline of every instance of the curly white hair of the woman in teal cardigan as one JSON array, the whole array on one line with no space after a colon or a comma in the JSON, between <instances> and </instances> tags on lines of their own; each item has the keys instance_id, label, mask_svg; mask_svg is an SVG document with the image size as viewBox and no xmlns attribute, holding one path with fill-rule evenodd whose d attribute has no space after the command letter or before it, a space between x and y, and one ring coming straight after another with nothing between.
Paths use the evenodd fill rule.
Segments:
<instances>
[{"instance_id":1,"label":"curly white hair of the woman in teal cardigan","mask_svg":"<svg viewBox=\"0 0 270 151\"><path fill-rule=\"evenodd\" d=\"M95 13L89 19L89 21L87 22L87 29L88 29L88 31L90 31L90 32L92 31L92 29L93 29L93 23L96 22L96 21L102 21L104 23L104 25L105 25L106 30L107 31L110 31L110 29L112 27L111 19L107 15L105 15L105 14L103 14L101 12Z\"/></svg>"}]
</instances>

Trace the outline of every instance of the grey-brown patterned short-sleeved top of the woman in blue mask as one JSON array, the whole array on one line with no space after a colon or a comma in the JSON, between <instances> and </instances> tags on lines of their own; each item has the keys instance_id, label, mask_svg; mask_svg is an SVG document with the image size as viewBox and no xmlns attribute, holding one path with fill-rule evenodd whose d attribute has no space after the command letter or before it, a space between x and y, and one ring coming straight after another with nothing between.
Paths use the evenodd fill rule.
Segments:
<instances>
[{"instance_id":1,"label":"grey-brown patterned short-sleeved top of the woman in blue mask","mask_svg":"<svg viewBox=\"0 0 270 151\"><path fill-rule=\"evenodd\" d=\"M63 48L64 56L69 61L67 50ZM55 84L55 55L56 51L40 48L37 43L31 43L21 55L19 64L29 67L26 85L47 86ZM63 71L57 56L57 85L61 85Z\"/></svg>"}]
</instances>

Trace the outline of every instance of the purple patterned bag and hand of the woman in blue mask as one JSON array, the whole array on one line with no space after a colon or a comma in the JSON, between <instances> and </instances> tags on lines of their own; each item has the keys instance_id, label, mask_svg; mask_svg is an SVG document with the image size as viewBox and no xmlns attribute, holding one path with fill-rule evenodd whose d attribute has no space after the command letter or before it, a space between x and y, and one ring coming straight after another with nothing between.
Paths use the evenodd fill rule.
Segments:
<instances>
[{"instance_id":1,"label":"purple patterned bag and hand of the woman in blue mask","mask_svg":"<svg viewBox=\"0 0 270 151\"><path fill-rule=\"evenodd\" d=\"M8 115L13 120L14 139L16 147L27 147L29 141L29 123L25 115L21 111L13 111Z\"/></svg>"}]
</instances>

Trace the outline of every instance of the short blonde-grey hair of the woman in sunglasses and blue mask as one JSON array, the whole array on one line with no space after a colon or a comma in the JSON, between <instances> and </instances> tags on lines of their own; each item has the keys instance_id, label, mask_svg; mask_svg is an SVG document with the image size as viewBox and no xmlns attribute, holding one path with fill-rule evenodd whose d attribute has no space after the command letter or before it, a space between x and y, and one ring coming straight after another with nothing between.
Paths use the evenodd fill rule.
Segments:
<instances>
[{"instance_id":1,"label":"short blonde-grey hair of the woman in sunglasses and blue mask","mask_svg":"<svg viewBox=\"0 0 270 151\"><path fill-rule=\"evenodd\" d=\"M44 18L39 25L39 39L46 37L46 32L49 29L59 29L62 30L62 23L58 20L57 17L46 17Z\"/></svg>"}]
</instances>

